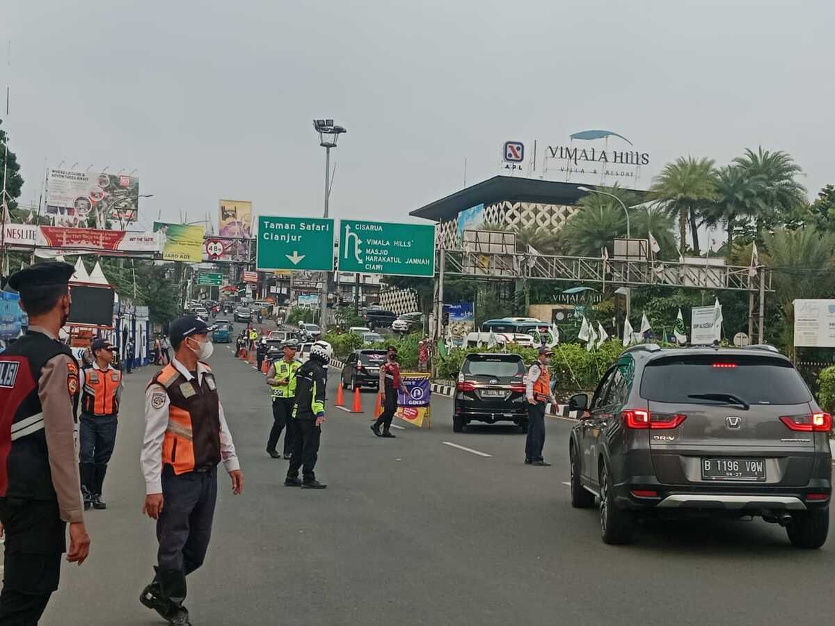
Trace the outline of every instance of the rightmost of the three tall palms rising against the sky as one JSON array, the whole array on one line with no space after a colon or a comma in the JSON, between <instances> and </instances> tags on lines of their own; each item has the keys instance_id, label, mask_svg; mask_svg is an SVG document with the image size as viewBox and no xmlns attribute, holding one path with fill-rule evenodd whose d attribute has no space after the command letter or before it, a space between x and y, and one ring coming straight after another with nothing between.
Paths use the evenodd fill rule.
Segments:
<instances>
[{"instance_id":1,"label":"rightmost of the three tall palms rising against the sky","mask_svg":"<svg viewBox=\"0 0 835 626\"><path fill-rule=\"evenodd\" d=\"M802 174L802 169L786 152L771 152L760 146L757 152L746 149L743 156L734 159L734 163L748 178L762 181L762 188L757 193L757 214L753 216L758 235L806 201L806 188L795 180L798 174Z\"/></svg>"}]
</instances>

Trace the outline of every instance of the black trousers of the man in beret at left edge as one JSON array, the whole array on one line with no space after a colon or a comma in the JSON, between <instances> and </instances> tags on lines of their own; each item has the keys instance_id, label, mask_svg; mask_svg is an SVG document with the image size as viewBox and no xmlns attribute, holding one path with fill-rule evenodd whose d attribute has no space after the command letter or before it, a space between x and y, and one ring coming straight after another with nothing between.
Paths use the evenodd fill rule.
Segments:
<instances>
[{"instance_id":1,"label":"black trousers of the man in beret at left edge","mask_svg":"<svg viewBox=\"0 0 835 626\"><path fill-rule=\"evenodd\" d=\"M34 626L58 588L66 524L58 501L0 498L6 533L0 624Z\"/></svg>"}]
</instances>

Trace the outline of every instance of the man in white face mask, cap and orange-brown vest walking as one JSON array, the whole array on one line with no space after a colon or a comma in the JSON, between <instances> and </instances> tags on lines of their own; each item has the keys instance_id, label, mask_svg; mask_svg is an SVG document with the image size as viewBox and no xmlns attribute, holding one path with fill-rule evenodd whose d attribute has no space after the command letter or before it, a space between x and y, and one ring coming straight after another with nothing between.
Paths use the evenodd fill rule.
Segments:
<instances>
[{"instance_id":1,"label":"man in white face mask, cap and orange-brown vest walking","mask_svg":"<svg viewBox=\"0 0 835 626\"><path fill-rule=\"evenodd\" d=\"M209 548L218 464L229 472L232 493L244 487L215 375L205 363L214 350L208 333L196 317L171 322L175 358L145 391L143 512L157 521L159 551L154 579L139 600L171 624L190 624L186 577Z\"/></svg>"}]
</instances>

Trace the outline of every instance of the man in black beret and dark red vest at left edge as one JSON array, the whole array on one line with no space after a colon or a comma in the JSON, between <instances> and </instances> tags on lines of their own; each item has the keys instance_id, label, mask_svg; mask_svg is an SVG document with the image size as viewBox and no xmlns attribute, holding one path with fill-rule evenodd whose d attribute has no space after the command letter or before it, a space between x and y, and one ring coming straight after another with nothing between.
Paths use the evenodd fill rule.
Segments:
<instances>
[{"instance_id":1,"label":"man in black beret and dark red vest at left edge","mask_svg":"<svg viewBox=\"0 0 835 626\"><path fill-rule=\"evenodd\" d=\"M75 452L78 363L58 341L72 305L73 270L36 263L8 280L20 292L29 328L0 355L3 624L38 623L58 588L67 524L67 560L81 565L90 547Z\"/></svg>"}]
</instances>

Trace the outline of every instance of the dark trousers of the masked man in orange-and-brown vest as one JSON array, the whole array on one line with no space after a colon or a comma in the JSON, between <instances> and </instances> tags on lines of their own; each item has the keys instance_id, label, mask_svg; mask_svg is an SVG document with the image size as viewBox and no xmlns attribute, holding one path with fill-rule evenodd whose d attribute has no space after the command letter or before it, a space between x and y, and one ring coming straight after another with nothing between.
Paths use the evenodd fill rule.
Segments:
<instances>
[{"instance_id":1,"label":"dark trousers of the masked man in orange-and-brown vest","mask_svg":"<svg viewBox=\"0 0 835 626\"><path fill-rule=\"evenodd\" d=\"M217 467L176 476L170 465L162 472L164 505L157 520L156 580L163 598L180 605L185 577L200 568L209 549L217 500Z\"/></svg>"}]
</instances>

